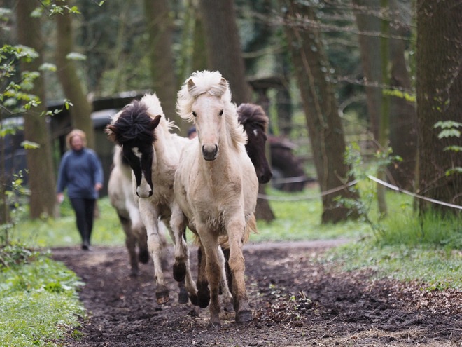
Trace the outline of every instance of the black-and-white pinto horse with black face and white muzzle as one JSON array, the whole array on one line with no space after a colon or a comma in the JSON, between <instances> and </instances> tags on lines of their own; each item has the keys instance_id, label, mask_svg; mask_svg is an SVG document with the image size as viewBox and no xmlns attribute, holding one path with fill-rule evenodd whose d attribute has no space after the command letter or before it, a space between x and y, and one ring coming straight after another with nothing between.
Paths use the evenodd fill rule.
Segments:
<instances>
[{"instance_id":1,"label":"black-and-white pinto horse with black face and white muzzle","mask_svg":"<svg viewBox=\"0 0 462 347\"><path fill-rule=\"evenodd\" d=\"M174 175L181 150L191 140L172 134L172 123L167 121L158 97L145 95L134 100L117 114L106 132L116 142L133 170L132 191L139 207L141 221L146 226L148 249L154 262L155 294L158 304L169 301L169 290L162 272L162 243L158 219L167 226L175 245L174 278L185 280L186 290L193 304L197 303L197 288L190 274L189 250L184 238L186 224L172 213L183 212L174 200Z\"/></svg>"}]
</instances>

